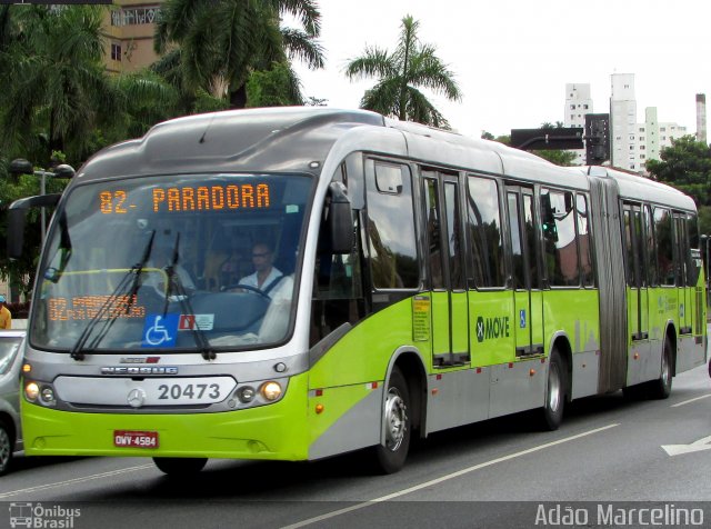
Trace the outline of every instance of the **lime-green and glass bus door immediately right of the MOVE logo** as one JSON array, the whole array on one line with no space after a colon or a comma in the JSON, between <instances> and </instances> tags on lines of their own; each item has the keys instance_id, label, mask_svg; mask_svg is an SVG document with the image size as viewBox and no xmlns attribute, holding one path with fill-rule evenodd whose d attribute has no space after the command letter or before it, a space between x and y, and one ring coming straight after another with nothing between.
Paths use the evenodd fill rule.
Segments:
<instances>
[{"instance_id":1,"label":"lime-green and glass bus door immediately right of the MOVE logo","mask_svg":"<svg viewBox=\"0 0 711 529\"><path fill-rule=\"evenodd\" d=\"M511 233L512 290L515 328L515 356L542 355L543 293L533 189L507 186L509 232Z\"/></svg>"}]
</instances>

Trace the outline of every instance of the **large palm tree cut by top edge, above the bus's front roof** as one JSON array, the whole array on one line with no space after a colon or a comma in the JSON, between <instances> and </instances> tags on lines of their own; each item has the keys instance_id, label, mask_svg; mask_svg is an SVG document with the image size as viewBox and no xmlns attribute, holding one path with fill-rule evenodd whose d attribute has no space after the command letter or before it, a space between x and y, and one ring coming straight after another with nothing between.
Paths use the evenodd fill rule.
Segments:
<instances>
[{"instance_id":1,"label":"large palm tree cut by top edge, above the bus's front roof","mask_svg":"<svg viewBox=\"0 0 711 529\"><path fill-rule=\"evenodd\" d=\"M282 28L283 14L298 19L303 29ZM163 57L154 71L189 98L199 89L227 93L231 108L243 108L253 71L286 66L288 84L298 87L291 59L323 67L316 41L320 18L313 0L167 0L154 38L156 51ZM297 98L301 99L299 92Z\"/></svg>"}]
</instances>

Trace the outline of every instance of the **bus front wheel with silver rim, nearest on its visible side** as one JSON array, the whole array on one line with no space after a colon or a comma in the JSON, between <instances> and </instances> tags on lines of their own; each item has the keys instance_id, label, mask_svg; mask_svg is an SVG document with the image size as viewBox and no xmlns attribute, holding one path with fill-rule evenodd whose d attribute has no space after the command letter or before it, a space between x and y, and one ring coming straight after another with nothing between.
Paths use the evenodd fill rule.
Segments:
<instances>
[{"instance_id":1,"label":"bus front wheel with silver rim, nearest on its visible side","mask_svg":"<svg viewBox=\"0 0 711 529\"><path fill-rule=\"evenodd\" d=\"M383 405L384 445L373 447L378 470L393 473L404 466L410 449L410 391L398 367L392 369Z\"/></svg>"}]
</instances>

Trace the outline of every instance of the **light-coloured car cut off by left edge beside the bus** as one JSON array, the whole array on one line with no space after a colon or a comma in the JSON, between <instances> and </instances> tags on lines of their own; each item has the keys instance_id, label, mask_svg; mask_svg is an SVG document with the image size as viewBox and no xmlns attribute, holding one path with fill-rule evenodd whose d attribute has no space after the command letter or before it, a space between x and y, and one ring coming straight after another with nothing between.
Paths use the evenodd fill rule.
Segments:
<instances>
[{"instance_id":1,"label":"light-coloured car cut off by left edge beside the bus","mask_svg":"<svg viewBox=\"0 0 711 529\"><path fill-rule=\"evenodd\" d=\"M22 449L20 367L24 333L0 331L0 476L8 472L13 452Z\"/></svg>"}]
</instances>

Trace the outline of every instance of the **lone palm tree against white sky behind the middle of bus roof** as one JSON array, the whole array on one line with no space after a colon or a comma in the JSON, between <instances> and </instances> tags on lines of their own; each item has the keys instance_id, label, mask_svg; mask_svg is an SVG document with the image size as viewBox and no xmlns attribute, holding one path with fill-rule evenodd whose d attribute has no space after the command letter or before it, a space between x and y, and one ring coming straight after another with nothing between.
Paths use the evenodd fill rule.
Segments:
<instances>
[{"instance_id":1,"label":"lone palm tree against white sky behind the middle of bus roof","mask_svg":"<svg viewBox=\"0 0 711 529\"><path fill-rule=\"evenodd\" d=\"M380 78L363 96L361 108L401 121L449 128L444 117L418 87L443 92L452 101L459 101L461 93L454 74L434 54L434 47L420 43L417 36L419 26L411 16L404 17L395 50L390 53L375 47L365 48L362 57L349 62L346 76L351 80Z\"/></svg>"}]
</instances>

